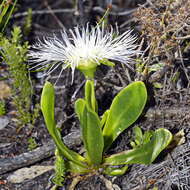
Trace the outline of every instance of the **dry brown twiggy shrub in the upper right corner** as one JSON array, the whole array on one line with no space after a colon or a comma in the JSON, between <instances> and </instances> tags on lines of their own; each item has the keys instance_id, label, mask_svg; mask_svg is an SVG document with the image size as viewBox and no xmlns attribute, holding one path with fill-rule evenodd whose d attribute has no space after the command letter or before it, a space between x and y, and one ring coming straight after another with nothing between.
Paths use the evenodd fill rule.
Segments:
<instances>
[{"instance_id":1,"label":"dry brown twiggy shrub in the upper right corner","mask_svg":"<svg viewBox=\"0 0 190 190\"><path fill-rule=\"evenodd\" d=\"M167 58L172 63L178 46L183 46L183 40L190 38L189 10L190 1L186 0L155 1L154 6L137 10L135 16L141 25L142 36L154 56Z\"/></svg>"}]
</instances>

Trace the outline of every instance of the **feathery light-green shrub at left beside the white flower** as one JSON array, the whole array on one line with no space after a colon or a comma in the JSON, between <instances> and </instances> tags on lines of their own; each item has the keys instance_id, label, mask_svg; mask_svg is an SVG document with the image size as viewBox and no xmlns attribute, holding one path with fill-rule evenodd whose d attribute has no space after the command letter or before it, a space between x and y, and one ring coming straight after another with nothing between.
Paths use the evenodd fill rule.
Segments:
<instances>
[{"instance_id":1,"label":"feathery light-green shrub at left beside the white flower","mask_svg":"<svg viewBox=\"0 0 190 190\"><path fill-rule=\"evenodd\" d=\"M34 124L38 116L38 106L31 110L31 98L33 89L29 77L27 65L28 42L21 43L21 30L14 27L10 39L3 37L0 40L3 60L8 65L10 78L12 79L12 98L17 109L18 123L20 126Z\"/></svg>"}]
</instances>

